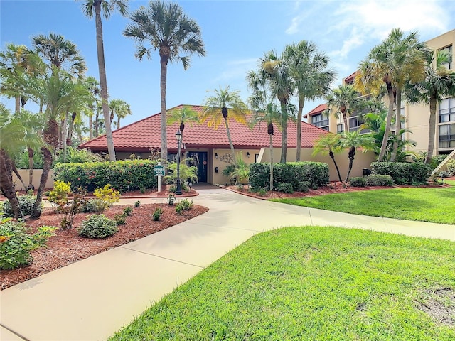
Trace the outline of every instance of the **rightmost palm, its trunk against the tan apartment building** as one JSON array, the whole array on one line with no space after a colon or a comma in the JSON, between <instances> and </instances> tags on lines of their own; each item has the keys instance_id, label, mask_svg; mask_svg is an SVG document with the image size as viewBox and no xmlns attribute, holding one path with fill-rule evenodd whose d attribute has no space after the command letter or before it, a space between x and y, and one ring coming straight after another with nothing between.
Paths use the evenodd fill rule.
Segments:
<instances>
[{"instance_id":1,"label":"rightmost palm, its trunk against the tan apartment building","mask_svg":"<svg viewBox=\"0 0 455 341\"><path fill-rule=\"evenodd\" d=\"M455 95L455 72L446 69L449 55L441 51L426 53L427 67L422 82L408 83L405 86L406 99L410 103L429 104L428 149L425 163L432 161L434 135L436 134L436 107L442 97Z\"/></svg>"}]
</instances>

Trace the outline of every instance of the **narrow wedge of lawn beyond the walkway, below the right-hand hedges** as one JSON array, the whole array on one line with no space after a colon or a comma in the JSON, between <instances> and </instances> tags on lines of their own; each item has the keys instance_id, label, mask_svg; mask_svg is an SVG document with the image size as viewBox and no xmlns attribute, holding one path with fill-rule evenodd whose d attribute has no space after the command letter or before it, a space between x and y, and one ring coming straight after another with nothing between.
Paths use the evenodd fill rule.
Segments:
<instances>
[{"instance_id":1,"label":"narrow wedge of lawn beyond the walkway, below the right-hand hedges","mask_svg":"<svg viewBox=\"0 0 455 341\"><path fill-rule=\"evenodd\" d=\"M455 224L455 187L387 188L272 201L355 215Z\"/></svg>"}]
</instances>

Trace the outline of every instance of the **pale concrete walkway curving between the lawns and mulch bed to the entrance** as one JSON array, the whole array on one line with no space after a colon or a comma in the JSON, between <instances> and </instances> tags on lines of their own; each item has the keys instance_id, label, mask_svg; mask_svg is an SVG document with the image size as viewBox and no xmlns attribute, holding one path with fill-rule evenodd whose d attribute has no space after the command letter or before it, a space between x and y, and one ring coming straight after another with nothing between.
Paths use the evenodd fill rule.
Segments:
<instances>
[{"instance_id":1,"label":"pale concrete walkway curving between the lawns and mulch bed to the entrance","mask_svg":"<svg viewBox=\"0 0 455 341\"><path fill-rule=\"evenodd\" d=\"M106 340L176 286L269 229L331 225L455 241L454 225L296 207L214 186L198 192L192 199L210 208L204 215L0 291L0 340Z\"/></svg>"}]
</instances>

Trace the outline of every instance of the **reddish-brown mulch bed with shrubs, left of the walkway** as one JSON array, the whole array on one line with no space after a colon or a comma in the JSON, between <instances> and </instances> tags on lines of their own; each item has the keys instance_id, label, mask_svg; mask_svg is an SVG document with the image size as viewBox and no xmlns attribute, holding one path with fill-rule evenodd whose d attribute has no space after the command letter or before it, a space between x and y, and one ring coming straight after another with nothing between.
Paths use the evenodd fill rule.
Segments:
<instances>
[{"instance_id":1,"label":"reddish-brown mulch bed with shrubs, left of the walkway","mask_svg":"<svg viewBox=\"0 0 455 341\"><path fill-rule=\"evenodd\" d=\"M128 195L122 195L122 197ZM138 199L140 201L140 199ZM105 211L105 215L114 218L114 215L122 214L127 205L115 205ZM153 213L157 207L161 207L163 214L161 220L154 222ZM23 266L14 270L0 271L0 290L9 288L31 278L41 276L49 271L61 268L68 264L85 259L87 257L107 251L113 247L127 244L134 240L154 234L175 224L179 224L198 215L207 212L208 208L193 205L193 208L184 211L183 215L177 215L176 207L166 204L146 204L133 208L133 215L127 217L126 224L119 226L119 232L105 239L88 239L77 235L76 227L87 217L86 213L77 215L74 227L63 231L56 230L55 236L48 240L48 247L31 252L33 262L29 266ZM53 212L53 208L45 208L43 214L37 220L28 220L28 227L60 226L61 216Z\"/></svg>"}]
</instances>

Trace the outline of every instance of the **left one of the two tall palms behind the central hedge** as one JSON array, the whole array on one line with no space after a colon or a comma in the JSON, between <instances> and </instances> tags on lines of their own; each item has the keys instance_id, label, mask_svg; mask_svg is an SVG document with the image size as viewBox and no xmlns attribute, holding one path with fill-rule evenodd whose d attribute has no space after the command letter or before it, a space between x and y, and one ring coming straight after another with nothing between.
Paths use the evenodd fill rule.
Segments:
<instances>
[{"instance_id":1,"label":"left one of the two tall palms behind the central hedge","mask_svg":"<svg viewBox=\"0 0 455 341\"><path fill-rule=\"evenodd\" d=\"M295 88L294 80L291 77L290 60L286 57L284 53L278 56L274 50L270 50L264 53L264 57L259 60L259 70L250 71L247 75L248 87L255 93L255 98L262 98L262 101L266 97L279 100L282 112L281 163L286 163L288 109Z\"/></svg>"}]
</instances>

